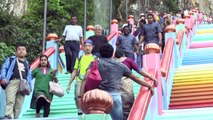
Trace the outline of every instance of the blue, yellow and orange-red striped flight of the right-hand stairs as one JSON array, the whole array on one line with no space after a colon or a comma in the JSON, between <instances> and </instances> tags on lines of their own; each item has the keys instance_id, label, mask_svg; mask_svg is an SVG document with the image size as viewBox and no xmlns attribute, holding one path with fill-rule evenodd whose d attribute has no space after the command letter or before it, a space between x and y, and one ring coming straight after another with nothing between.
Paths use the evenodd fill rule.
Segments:
<instances>
[{"instance_id":1,"label":"blue, yellow and orange-red striped flight of the right-hand stairs","mask_svg":"<svg viewBox=\"0 0 213 120\"><path fill-rule=\"evenodd\" d=\"M175 71L170 109L213 107L213 48L190 49Z\"/></svg>"}]
</instances>

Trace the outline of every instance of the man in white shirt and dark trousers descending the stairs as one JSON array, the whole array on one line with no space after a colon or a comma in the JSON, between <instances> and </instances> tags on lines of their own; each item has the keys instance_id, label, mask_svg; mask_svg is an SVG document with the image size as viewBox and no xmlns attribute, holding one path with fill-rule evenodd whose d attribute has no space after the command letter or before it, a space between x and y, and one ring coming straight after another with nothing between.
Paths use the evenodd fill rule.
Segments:
<instances>
[{"instance_id":1,"label":"man in white shirt and dark trousers descending the stairs","mask_svg":"<svg viewBox=\"0 0 213 120\"><path fill-rule=\"evenodd\" d=\"M82 27L77 25L77 17L71 16L71 24L66 25L62 37L59 39L65 39L65 56L67 73L72 73L75 60L78 57L80 51L80 43L83 46L83 32Z\"/></svg>"}]
</instances>

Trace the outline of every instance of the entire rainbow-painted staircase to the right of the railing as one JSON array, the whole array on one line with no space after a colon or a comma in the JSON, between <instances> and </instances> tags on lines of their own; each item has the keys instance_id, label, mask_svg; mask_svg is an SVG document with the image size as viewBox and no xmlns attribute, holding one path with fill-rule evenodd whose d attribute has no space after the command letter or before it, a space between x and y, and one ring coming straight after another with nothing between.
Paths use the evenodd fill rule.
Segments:
<instances>
[{"instance_id":1,"label":"entire rainbow-painted staircase to the right of the railing","mask_svg":"<svg viewBox=\"0 0 213 120\"><path fill-rule=\"evenodd\" d=\"M213 120L212 35L193 36L192 43L207 44L186 51L183 66L175 70L169 110L158 120Z\"/></svg>"}]
</instances>

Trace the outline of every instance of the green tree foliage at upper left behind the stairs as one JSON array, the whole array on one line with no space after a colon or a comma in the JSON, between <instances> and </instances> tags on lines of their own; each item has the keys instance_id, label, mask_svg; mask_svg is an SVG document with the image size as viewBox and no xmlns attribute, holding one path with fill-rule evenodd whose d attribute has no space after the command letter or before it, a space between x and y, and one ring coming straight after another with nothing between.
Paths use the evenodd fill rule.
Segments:
<instances>
[{"instance_id":1,"label":"green tree foliage at upper left behind the stairs","mask_svg":"<svg viewBox=\"0 0 213 120\"><path fill-rule=\"evenodd\" d=\"M79 24L82 26L83 6L83 0L48 0L46 34L54 32L61 36L72 14L78 17ZM87 2L88 24L92 24L93 21L93 6L93 2ZM0 60L14 53L7 53L8 49L5 47L12 49L21 42L27 45L29 61L34 61L42 50L44 0L28 0L27 13L22 17L13 16L6 11L0 8L0 42L5 43L0 46L1 53L4 54L0 56Z\"/></svg>"}]
</instances>

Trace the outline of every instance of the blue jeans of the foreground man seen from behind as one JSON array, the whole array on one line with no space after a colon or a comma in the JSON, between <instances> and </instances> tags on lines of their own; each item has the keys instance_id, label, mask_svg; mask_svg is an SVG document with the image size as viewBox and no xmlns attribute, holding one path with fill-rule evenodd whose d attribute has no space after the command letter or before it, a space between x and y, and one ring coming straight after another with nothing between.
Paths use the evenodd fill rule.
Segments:
<instances>
[{"instance_id":1,"label":"blue jeans of the foreground man seen from behind","mask_svg":"<svg viewBox=\"0 0 213 120\"><path fill-rule=\"evenodd\" d=\"M123 108L122 108L122 100L120 93L110 93L108 92L113 99L113 108L110 116L113 120L123 120Z\"/></svg>"}]
</instances>

